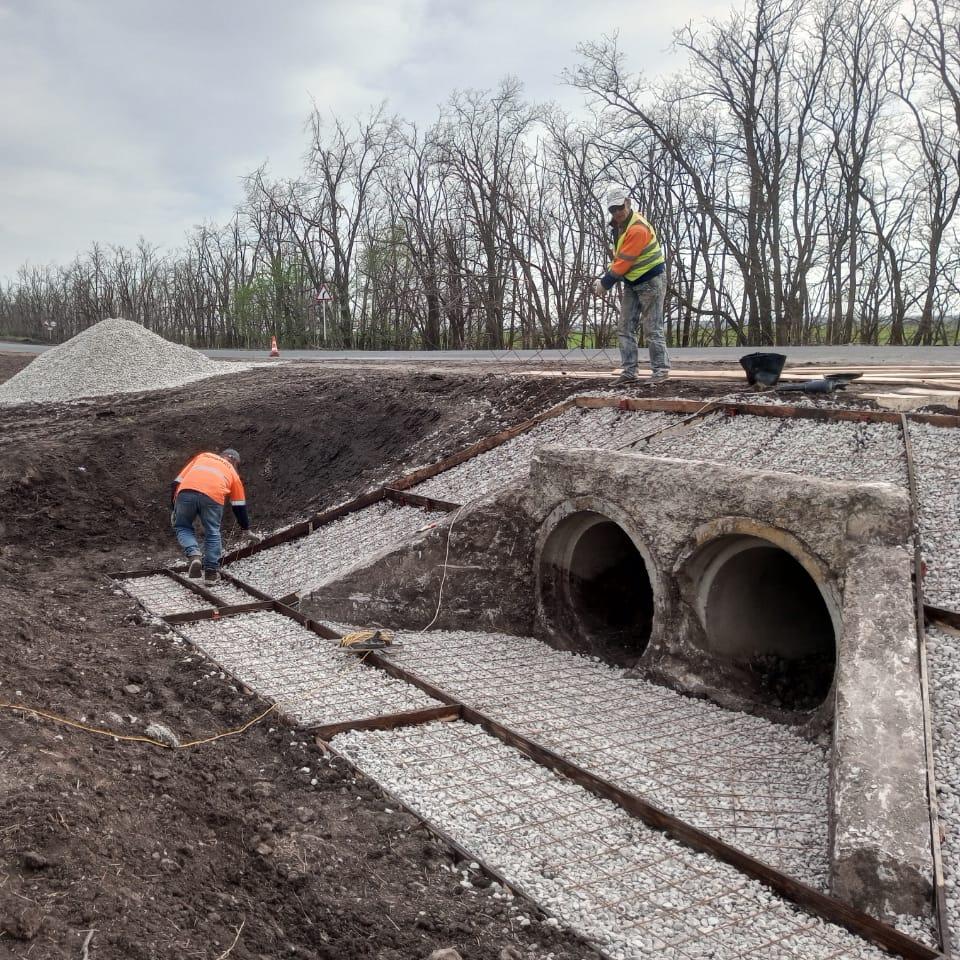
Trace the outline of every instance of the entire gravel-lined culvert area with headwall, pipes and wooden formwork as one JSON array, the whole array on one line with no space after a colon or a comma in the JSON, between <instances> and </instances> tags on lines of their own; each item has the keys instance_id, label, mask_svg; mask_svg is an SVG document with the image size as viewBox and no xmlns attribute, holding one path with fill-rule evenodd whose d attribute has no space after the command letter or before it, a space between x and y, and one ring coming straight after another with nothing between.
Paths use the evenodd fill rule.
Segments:
<instances>
[{"instance_id":1,"label":"entire gravel-lined culvert area with headwall, pipes and wooden formwork","mask_svg":"<svg viewBox=\"0 0 960 960\"><path fill-rule=\"evenodd\" d=\"M602 955L946 955L957 427L577 398L116 581Z\"/></svg>"}]
</instances>

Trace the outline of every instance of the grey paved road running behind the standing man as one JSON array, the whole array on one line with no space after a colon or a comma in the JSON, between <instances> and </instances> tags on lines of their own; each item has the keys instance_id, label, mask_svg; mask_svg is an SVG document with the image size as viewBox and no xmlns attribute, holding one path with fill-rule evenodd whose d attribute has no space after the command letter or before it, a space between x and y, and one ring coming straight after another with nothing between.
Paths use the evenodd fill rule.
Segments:
<instances>
[{"instance_id":1,"label":"grey paved road running behind the standing man","mask_svg":"<svg viewBox=\"0 0 960 960\"><path fill-rule=\"evenodd\" d=\"M13 343L0 340L0 353L43 353L49 346ZM203 350L215 360L259 360L269 355L261 350ZM787 364L830 364L842 366L869 366L873 364L958 365L960 347L683 347L672 348L670 356L678 363L736 363L747 353L785 353ZM641 362L646 351L641 350ZM283 350L285 360L334 360L389 363L542 363L544 366L562 364L610 366L619 364L615 347L607 350Z\"/></svg>"}]
</instances>

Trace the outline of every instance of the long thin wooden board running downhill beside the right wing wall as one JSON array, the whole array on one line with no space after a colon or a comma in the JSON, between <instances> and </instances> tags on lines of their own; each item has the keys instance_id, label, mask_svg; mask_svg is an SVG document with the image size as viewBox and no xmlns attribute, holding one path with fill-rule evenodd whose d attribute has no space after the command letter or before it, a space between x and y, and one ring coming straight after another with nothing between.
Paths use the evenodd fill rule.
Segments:
<instances>
[{"instance_id":1,"label":"long thin wooden board running downhill beside the right wing wall","mask_svg":"<svg viewBox=\"0 0 960 960\"><path fill-rule=\"evenodd\" d=\"M923 744L927 762L927 812L930 817L930 848L933 853L934 916L940 934L940 949L950 953L950 928L947 922L946 885L943 879L943 856L940 849L940 814L937 807L936 762L933 753L933 725L930 708L930 677L927 668L927 641L923 610L923 549L920 539L920 493L917 485L910 424L900 414L903 449L907 461L907 488L910 491L910 522L913 526L913 601L917 630L917 667L920 671L920 699L923 709Z\"/></svg>"}]
</instances>

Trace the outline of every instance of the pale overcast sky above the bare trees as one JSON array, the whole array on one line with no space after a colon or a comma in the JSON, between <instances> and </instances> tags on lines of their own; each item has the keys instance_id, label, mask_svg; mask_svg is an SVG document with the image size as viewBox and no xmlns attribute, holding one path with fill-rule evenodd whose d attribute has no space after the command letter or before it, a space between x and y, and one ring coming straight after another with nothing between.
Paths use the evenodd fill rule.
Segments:
<instances>
[{"instance_id":1,"label":"pale overcast sky above the bare trees","mask_svg":"<svg viewBox=\"0 0 960 960\"><path fill-rule=\"evenodd\" d=\"M313 100L429 122L510 74L568 107L576 45L619 31L673 69L672 32L729 0L0 0L0 280L94 241L178 246L264 161L299 171Z\"/></svg>"}]
</instances>

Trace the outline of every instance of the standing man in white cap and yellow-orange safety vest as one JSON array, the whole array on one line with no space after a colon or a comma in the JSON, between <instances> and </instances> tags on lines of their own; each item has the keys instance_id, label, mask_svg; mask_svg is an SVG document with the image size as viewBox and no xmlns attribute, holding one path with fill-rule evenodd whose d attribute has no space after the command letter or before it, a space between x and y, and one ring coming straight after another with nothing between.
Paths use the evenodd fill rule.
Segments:
<instances>
[{"instance_id":1,"label":"standing man in white cap and yellow-orange safety vest","mask_svg":"<svg viewBox=\"0 0 960 960\"><path fill-rule=\"evenodd\" d=\"M623 281L620 304L620 365L617 383L637 379L637 328L650 348L650 383L663 383L670 376L670 357L663 336L663 300L667 292L666 262L657 233L646 217L630 206L623 187L607 191L607 210L613 230L613 262L597 281L594 293L604 297L615 283Z\"/></svg>"}]
</instances>

